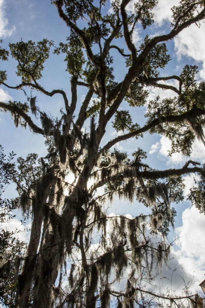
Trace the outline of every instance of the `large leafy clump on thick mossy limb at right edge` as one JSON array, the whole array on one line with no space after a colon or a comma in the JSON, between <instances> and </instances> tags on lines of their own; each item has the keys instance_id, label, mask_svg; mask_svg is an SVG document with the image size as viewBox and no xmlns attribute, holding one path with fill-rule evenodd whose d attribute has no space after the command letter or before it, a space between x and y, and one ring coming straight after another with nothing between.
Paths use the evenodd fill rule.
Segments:
<instances>
[{"instance_id":1,"label":"large leafy clump on thick mossy limb at right edge","mask_svg":"<svg viewBox=\"0 0 205 308\"><path fill-rule=\"evenodd\" d=\"M184 155L189 156L191 153L191 145L197 136L203 141L203 131L201 125L204 123L204 115L196 116L193 122L191 118L196 107L203 109L205 106L204 90L205 83L195 80L197 72L196 66L186 65L180 75L182 80L182 94L174 98L160 99L157 96L154 100L150 100L147 107L146 117L147 123L158 119L161 122L162 117L183 115L187 111L192 111L190 119L185 121L175 121L173 123L159 123L155 128L151 129L151 133L164 134L168 137L172 146L169 151L171 155L174 152L182 152Z\"/></svg>"}]
</instances>

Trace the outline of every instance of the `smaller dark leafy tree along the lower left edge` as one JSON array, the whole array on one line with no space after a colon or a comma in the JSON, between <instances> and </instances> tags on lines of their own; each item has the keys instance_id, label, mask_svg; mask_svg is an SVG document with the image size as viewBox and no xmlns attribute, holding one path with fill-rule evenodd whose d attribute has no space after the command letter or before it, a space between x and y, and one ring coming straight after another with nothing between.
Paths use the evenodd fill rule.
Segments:
<instances>
[{"instance_id":1,"label":"smaller dark leafy tree along the lower left edge","mask_svg":"<svg viewBox=\"0 0 205 308\"><path fill-rule=\"evenodd\" d=\"M5 189L11 182L10 173L14 169L14 152L6 159L0 145L0 303L6 307L15 307L16 278L20 270L25 249L24 242L14 237L14 231L4 228L4 223L16 216L13 210L17 200L2 199ZM16 230L16 233L20 230Z\"/></svg>"}]
</instances>

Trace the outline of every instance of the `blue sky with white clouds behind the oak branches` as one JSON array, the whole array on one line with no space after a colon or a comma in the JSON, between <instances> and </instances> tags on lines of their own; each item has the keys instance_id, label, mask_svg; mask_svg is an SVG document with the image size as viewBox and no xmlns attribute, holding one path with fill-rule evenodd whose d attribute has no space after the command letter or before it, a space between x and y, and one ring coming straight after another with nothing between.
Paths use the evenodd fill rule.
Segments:
<instances>
[{"instance_id":1,"label":"blue sky with white clouds behind the oak branches","mask_svg":"<svg viewBox=\"0 0 205 308\"><path fill-rule=\"evenodd\" d=\"M169 22L171 21L171 6L177 5L178 0L159 0L158 5L154 9L155 27L150 30L150 36L157 34L163 34L169 31ZM106 9L109 10L109 2ZM128 10L132 12L133 1L130 2ZM18 12L18 14L17 14ZM163 75L180 74L185 64L196 63L199 66L199 72L197 79L205 79L205 23L201 22L200 28L196 25L192 25L189 28L183 30L177 38L168 43L168 48L171 54L172 60L168 64L167 68L162 72ZM3 46L8 46L8 43L15 43L20 41L27 41L32 39L39 41L43 38L53 39L56 45L60 41L65 41L66 36L69 35L69 30L65 23L58 17L56 8L50 4L49 0L0 0L0 39L3 39ZM142 42L144 37L144 31L136 26L133 34L133 40L136 46ZM114 73L120 78L124 75L125 68L117 65L117 53L113 51L114 61ZM53 62L55 61L55 62ZM55 63L55 65L53 65ZM8 62L1 63L1 69L7 70L8 80L7 83L14 86L20 82L20 79L15 75L16 63L10 59ZM45 69L43 71L44 78L41 81L49 91L54 88L63 88L70 98L69 94L69 76L65 72L65 62L63 57L52 55L47 61ZM172 83L173 84L173 83ZM29 90L28 90L29 91ZM163 91L159 88L149 88L150 99L154 99L157 95L160 98L173 97L174 93L171 90ZM79 102L82 101L85 93L79 89L78 97ZM8 100L20 100L26 101L25 95L22 91L6 89L0 86L0 101L7 102ZM55 116L59 114L59 110L63 107L63 101L60 95L55 97L46 98L45 96L38 95L37 104L42 106L46 112L51 111ZM123 108L123 106L122 106ZM139 124L145 123L144 115L146 113L146 107L140 108L139 113L133 111L133 116L137 117ZM13 121L9 114L0 113L0 132L1 139L0 144L5 149L5 153L14 151L17 156L26 157L30 152L37 152L39 156L45 156L46 149L44 146L43 137L37 136L19 127L15 128ZM107 129L107 136L103 140L106 142L106 138L113 138L116 132L111 125ZM117 144L117 147L121 150L126 150L128 153L132 153L137 147L142 147L148 153L147 163L153 168L166 169L166 168L180 168L188 160L182 154L175 153L171 157L168 156L168 150L170 148L170 141L159 135L146 134L144 139L139 138L136 142L128 140ZM193 144L193 151L191 153L191 159L205 162L205 149L204 145L198 140L195 140ZM197 180L198 177L195 176ZM184 191L185 201L183 204L175 205L178 216L175 222L175 230L171 233L171 237L178 237L176 245L174 245L170 255L170 267L177 267L177 271L173 275L173 283L177 290L181 290L182 279L179 274L183 273L184 277L191 280L194 276L192 290L198 287L200 281L204 279L205 273L205 243L203 240L203 231L205 226L205 216L200 214L199 211L190 206L190 203L186 201L186 196L189 193L195 181L193 176L185 176L186 189ZM9 197L16 195L14 186L11 185L7 191ZM138 204L129 204L128 201L117 200L113 205L109 205L109 213L125 213L132 216L144 212L145 207ZM19 226L19 220L14 219L10 223L9 228L15 228ZM29 225L27 226L29 227ZM28 234L21 233L24 240L28 240ZM182 270L183 268L183 270ZM164 277L170 278L170 270L168 266L163 268ZM171 272L172 273L172 272ZM168 281L169 280L169 281ZM166 279L164 287L170 283L170 279Z\"/></svg>"}]
</instances>

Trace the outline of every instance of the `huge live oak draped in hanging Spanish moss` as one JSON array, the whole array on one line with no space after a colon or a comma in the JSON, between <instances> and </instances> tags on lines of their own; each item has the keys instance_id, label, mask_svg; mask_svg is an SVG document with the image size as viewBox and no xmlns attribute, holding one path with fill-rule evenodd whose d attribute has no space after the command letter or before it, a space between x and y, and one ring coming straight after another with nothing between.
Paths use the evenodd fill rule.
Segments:
<instances>
[{"instance_id":1,"label":"huge live oak draped in hanging Spanish moss","mask_svg":"<svg viewBox=\"0 0 205 308\"><path fill-rule=\"evenodd\" d=\"M180 1L172 8L169 33L152 38L146 35L139 46L132 40L135 26L152 27L157 0L136 1L132 13L127 10L130 0L113 1L108 14L102 13L106 0L51 2L68 26L69 37L59 46L48 39L10 43L10 55L17 61L16 74L22 82L7 84L6 71L0 72L4 87L23 90L27 95L26 103L0 102L1 110L10 112L16 127L28 126L43 135L48 148L39 163L37 156L30 154L18 159L18 171L11 170L19 207L32 217L30 241L18 275L16 307L160 305L153 296L167 297L150 292L146 282L170 249L166 236L175 216L170 204L183 200L183 175L198 173L203 182L205 170L191 160L180 169L155 170L143 162L143 149L133 150L128 157L115 146L145 133L158 133L171 140L170 153L188 156L195 138L205 143L205 82L196 82L197 67L186 65L179 76L159 72L171 59L166 42L190 25L200 25L205 18L205 2ZM127 51L120 47L122 41ZM50 48L65 55L70 101L66 91L41 86ZM118 65L125 63L127 67L120 82L113 75L112 49L121 57ZM8 56L2 48L1 59ZM178 82L178 86L170 85L170 81ZM172 90L175 97L156 97L148 102L148 86ZM82 102L78 87L86 91ZM32 90L31 95L26 89ZM65 106L61 118L41 110L38 92L50 97L62 95ZM120 108L123 100L128 104L126 110ZM140 127L129 110L146 103L147 122ZM41 126L35 124L35 118L40 118ZM89 128L86 120L90 121ZM103 144L110 122L118 135ZM69 180L71 174L74 180ZM150 215L132 219L108 216L106 203L115 195L150 206ZM199 193L195 191L195 195L194 203L200 207ZM117 288L123 275L126 282ZM170 300L174 305L177 299ZM191 303L202 306L197 296Z\"/></svg>"}]
</instances>

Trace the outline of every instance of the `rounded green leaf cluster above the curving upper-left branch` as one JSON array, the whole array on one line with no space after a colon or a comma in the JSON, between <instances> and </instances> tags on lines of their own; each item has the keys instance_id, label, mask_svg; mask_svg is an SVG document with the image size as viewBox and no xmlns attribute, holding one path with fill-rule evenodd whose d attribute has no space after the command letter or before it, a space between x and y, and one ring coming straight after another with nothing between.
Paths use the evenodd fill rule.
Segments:
<instances>
[{"instance_id":1,"label":"rounded green leaf cluster above the curving upper-left branch","mask_svg":"<svg viewBox=\"0 0 205 308\"><path fill-rule=\"evenodd\" d=\"M22 82L30 83L42 77L43 64L49 57L52 44L53 41L48 39L43 39L37 44L31 40L9 44L12 58L18 61L16 74L22 77Z\"/></svg>"}]
</instances>

